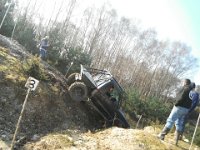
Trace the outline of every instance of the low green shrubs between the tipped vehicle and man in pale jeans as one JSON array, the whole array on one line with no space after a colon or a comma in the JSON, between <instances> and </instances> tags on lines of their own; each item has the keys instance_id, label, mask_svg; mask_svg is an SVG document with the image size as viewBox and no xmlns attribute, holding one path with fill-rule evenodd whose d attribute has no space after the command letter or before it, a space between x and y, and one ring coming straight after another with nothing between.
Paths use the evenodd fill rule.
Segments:
<instances>
[{"instance_id":1,"label":"low green shrubs between the tipped vehicle and man in pale jeans","mask_svg":"<svg viewBox=\"0 0 200 150\"><path fill-rule=\"evenodd\" d=\"M127 90L127 105L125 110L131 114L142 115L146 125L151 122L164 123L171 111L171 104L164 104L156 97L141 99L136 89ZM131 116L131 115L130 115Z\"/></svg>"}]
</instances>

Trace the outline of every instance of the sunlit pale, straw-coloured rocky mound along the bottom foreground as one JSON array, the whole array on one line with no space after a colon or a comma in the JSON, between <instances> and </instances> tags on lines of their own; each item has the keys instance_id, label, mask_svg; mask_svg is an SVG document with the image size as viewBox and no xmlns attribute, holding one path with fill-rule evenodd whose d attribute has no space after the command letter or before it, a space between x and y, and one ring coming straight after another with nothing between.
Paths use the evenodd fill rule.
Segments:
<instances>
[{"instance_id":1,"label":"sunlit pale, straw-coloured rocky mound along the bottom foreground","mask_svg":"<svg viewBox=\"0 0 200 150\"><path fill-rule=\"evenodd\" d=\"M112 127L96 132L79 133L68 131L62 134L51 134L38 141L27 143L24 150L65 149L65 150L187 150L189 144L183 141L175 146L172 134L166 140L157 139L159 130L146 127L144 130ZM198 150L194 146L192 149Z\"/></svg>"}]
</instances>

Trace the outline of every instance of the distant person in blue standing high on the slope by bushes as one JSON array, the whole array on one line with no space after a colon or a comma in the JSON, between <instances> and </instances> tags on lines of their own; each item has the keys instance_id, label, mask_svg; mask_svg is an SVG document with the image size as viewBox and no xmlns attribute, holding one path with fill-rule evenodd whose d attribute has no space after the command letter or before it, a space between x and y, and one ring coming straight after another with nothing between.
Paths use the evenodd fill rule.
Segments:
<instances>
[{"instance_id":1,"label":"distant person in blue standing high on the slope by bushes","mask_svg":"<svg viewBox=\"0 0 200 150\"><path fill-rule=\"evenodd\" d=\"M48 36L45 36L41 42L40 42L40 58L42 58L43 60L46 59L47 57L47 48L49 47L49 37Z\"/></svg>"}]
</instances>

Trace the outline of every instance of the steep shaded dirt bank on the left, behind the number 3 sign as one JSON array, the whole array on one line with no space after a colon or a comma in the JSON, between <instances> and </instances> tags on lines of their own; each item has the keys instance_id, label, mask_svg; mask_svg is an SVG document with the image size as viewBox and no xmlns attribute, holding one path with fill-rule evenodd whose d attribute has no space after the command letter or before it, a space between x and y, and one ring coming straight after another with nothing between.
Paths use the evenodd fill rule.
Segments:
<instances>
[{"instance_id":1,"label":"steep shaded dirt bank on the left, behind the number 3 sign","mask_svg":"<svg viewBox=\"0 0 200 150\"><path fill-rule=\"evenodd\" d=\"M31 55L16 42L0 35L0 139L10 143L22 109L29 75L23 70ZM83 103L70 100L65 77L46 62L41 61L49 80L40 81L31 92L17 136L19 143L33 136L44 136L53 131L92 130L99 126L95 117L88 115Z\"/></svg>"}]
</instances>

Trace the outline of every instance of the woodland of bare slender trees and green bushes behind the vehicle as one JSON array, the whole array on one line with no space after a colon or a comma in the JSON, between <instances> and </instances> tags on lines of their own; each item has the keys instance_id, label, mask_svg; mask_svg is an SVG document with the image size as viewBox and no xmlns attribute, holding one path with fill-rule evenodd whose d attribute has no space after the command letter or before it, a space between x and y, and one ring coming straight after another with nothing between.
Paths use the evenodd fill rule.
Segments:
<instances>
[{"instance_id":1,"label":"woodland of bare slender trees and green bushes behind the vehicle","mask_svg":"<svg viewBox=\"0 0 200 150\"><path fill-rule=\"evenodd\" d=\"M38 44L48 35L50 65L63 74L72 61L71 71L79 64L108 69L126 90L124 107L130 120L142 115L142 127L165 123L181 79L198 65L192 48L179 41L159 40L155 29L144 28L137 19L119 17L109 4L85 8L74 17L80 1L63 0L59 9L44 18L37 12L47 2L29 0L21 8L18 1L1 0L0 21L8 13L0 34L18 41L36 57ZM191 119L197 118L198 111Z\"/></svg>"}]
</instances>

